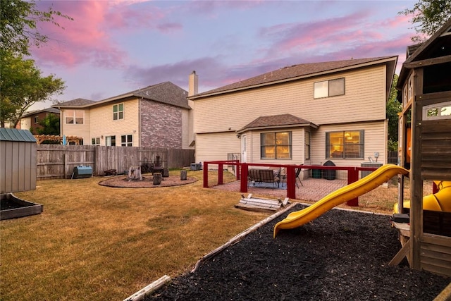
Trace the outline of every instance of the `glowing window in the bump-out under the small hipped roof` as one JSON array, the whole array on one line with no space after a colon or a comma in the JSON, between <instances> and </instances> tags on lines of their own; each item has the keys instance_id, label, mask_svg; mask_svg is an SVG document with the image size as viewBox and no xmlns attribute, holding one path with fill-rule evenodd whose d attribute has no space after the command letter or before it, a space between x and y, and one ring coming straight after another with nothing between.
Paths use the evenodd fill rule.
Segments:
<instances>
[{"instance_id":1,"label":"glowing window in the bump-out under the small hipped roof","mask_svg":"<svg viewBox=\"0 0 451 301\"><path fill-rule=\"evenodd\" d=\"M261 159L291 159L291 132L260 134Z\"/></svg>"}]
</instances>

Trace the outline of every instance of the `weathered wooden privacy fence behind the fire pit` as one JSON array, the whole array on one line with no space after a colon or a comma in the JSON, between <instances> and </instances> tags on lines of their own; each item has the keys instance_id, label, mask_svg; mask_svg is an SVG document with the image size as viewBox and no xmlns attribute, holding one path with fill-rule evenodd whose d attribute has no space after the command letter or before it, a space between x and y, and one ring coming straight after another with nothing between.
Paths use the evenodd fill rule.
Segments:
<instances>
[{"instance_id":1,"label":"weathered wooden privacy fence behind the fire pit","mask_svg":"<svg viewBox=\"0 0 451 301\"><path fill-rule=\"evenodd\" d=\"M105 147L99 145L37 145L37 179L70 178L75 166L90 166L94 176L104 171L128 171L160 156L163 167L181 168L194 162L194 149Z\"/></svg>"}]
</instances>

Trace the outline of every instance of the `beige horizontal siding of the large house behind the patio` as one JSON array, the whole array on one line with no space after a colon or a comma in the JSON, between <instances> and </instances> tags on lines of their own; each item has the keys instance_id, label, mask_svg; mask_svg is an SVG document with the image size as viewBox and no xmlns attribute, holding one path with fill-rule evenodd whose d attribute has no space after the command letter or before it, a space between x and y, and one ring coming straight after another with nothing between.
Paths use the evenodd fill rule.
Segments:
<instances>
[{"instance_id":1,"label":"beige horizontal siding of the large house behind the patio","mask_svg":"<svg viewBox=\"0 0 451 301\"><path fill-rule=\"evenodd\" d=\"M196 161L224 159L228 152L240 152L235 133L260 116L290 113L319 125L311 132L310 159L304 158L304 128L292 131L291 160L261 160L260 133L248 131L247 162L283 164L323 164L326 159L326 132L364 130L364 159L333 160L338 166L360 166L368 156L379 153L385 163L387 95L385 65L369 66L342 73L330 73L279 85L195 99L194 132L197 133ZM314 82L345 78L345 95L314 99ZM268 130L274 131L274 130ZM244 134L244 133L243 133ZM202 137L202 139L199 139ZM223 137L223 141L219 141ZM229 144L230 143L230 144ZM214 147L212 147L214 146Z\"/></svg>"}]
</instances>

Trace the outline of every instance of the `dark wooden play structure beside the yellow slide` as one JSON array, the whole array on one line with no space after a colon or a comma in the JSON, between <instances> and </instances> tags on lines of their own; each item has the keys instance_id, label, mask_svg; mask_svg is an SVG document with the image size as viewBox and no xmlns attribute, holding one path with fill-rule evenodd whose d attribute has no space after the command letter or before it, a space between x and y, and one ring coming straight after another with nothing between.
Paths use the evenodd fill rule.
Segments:
<instances>
[{"instance_id":1,"label":"dark wooden play structure beside the yellow slide","mask_svg":"<svg viewBox=\"0 0 451 301\"><path fill-rule=\"evenodd\" d=\"M398 206L409 213L409 223L397 226L402 249L390 263L407 257L412 269L445 276L451 276L451 235L440 227L451 227L451 212L426 211L423 199L425 181L451 181L450 70L451 19L426 42L407 48L397 82L402 102L398 159L410 170L399 178ZM409 211L403 208L407 184ZM428 229L438 230L432 234Z\"/></svg>"}]
</instances>

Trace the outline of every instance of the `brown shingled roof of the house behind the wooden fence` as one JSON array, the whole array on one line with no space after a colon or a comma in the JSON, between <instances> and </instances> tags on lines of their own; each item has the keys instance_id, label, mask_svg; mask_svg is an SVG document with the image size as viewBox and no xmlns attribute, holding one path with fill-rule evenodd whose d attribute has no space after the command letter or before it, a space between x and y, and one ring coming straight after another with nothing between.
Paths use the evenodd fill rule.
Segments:
<instances>
[{"instance_id":1,"label":"brown shingled roof of the house behind the wooden fence","mask_svg":"<svg viewBox=\"0 0 451 301\"><path fill-rule=\"evenodd\" d=\"M171 106L179 106L185 109L191 109L187 102L188 92L181 87L174 85L172 82L161 82L156 85L151 85L142 89L130 91L124 94L119 94L114 97L109 97L99 102L93 102L87 99L74 99L69 102L54 105L58 108L87 108L92 106L100 106L109 102L120 102L132 98L148 99L154 102L161 102L163 104L170 104Z\"/></svg>"}]
</instances>

